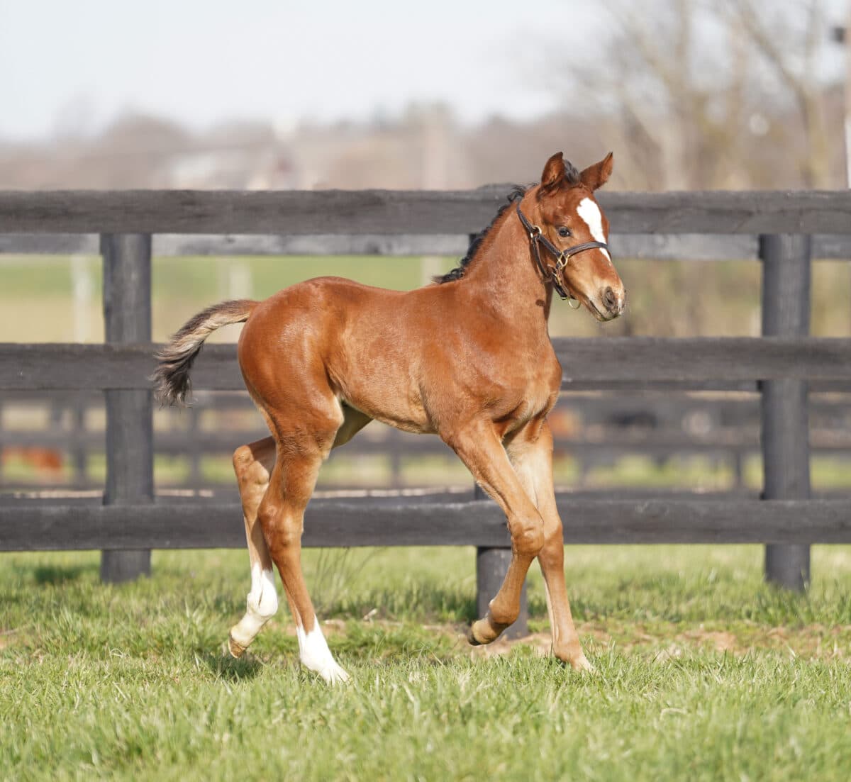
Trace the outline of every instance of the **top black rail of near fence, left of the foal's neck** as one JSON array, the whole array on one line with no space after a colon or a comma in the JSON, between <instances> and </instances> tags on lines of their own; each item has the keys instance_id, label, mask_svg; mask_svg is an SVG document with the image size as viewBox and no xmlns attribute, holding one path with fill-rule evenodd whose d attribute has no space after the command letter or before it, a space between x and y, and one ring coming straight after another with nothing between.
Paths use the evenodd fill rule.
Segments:
<instances>
[{"instance_id":1,"label":"top black rail of near fence, left of the foal's neck","mask_svg":"<svg viewBox=\"0 0 851 782\"><path fill-rule=\"evenodd\" d=\"M479 191L0 191L0 232L469 234L505 203Z\"/></svg>"}]
</instances>

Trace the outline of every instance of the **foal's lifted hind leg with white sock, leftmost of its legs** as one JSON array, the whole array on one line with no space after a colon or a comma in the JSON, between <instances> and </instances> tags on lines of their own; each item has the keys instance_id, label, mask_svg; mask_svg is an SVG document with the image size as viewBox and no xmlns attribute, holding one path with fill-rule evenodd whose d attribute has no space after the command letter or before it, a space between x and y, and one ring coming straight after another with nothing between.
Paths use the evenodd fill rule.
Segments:
<instances>
[{"instance_id":1,"label":"foal's lifted hind leg with white sock, leftmost of its legs","mask_svg":"<svg viewBox=\"0 0 851 782\"><path fill-rule=\"evenodd\" d=\"M277 611L275 574L263 531L257 523L257 511L269 486L269 474L274 464L275 441L271 437L243 445L233 454L233 469L237 473L239 496L243 502L245 538L251 562L251 591L248 592L245 615L231 627L228 638L228 647L234 657L243 654L260 628Z\"/></svg>"}]
</instances>

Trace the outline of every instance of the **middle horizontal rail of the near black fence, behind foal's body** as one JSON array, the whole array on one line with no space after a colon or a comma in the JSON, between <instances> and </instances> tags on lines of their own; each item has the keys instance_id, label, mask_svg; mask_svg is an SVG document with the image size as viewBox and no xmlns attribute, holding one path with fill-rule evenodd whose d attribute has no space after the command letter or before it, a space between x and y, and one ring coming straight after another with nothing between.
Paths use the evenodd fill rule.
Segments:
<instances>
[{"instance_id":1,"label":"middle horizontal rail of the near black fence, behind foal's body","mask_svg":"<svg viewBox=\"0 0 851 782\"><path fill-rule=\"evenodd\" d=\"M820 337L612 337L553 340L563 389L607 383L703 384L753 390L753 380L851 379L851 340ZM156 345L0 344L0 390L149 388ZM192 369L197 389L241 391L234 345L207 345ZM840 383L839 390L847 390Z\"/></svg>"}]
</instances>

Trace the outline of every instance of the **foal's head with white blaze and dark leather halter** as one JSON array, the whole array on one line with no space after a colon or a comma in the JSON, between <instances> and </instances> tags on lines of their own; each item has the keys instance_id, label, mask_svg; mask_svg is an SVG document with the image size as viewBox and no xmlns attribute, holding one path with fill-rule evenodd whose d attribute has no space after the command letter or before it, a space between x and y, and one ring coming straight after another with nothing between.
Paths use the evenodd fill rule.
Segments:
<instances>
[{"instance_id":1,"label":"foal's head with white blaze and dark leather halter","mask_svg":"<svg viewBox=\"0 0 851 782\"><path fill-rule=\"evenodd\" d=\"M586 242L606 243L608 220L594 191L606 183L611 173L611 152L581 174L558 152L546 162L540 185L523 199L523 208L528 209L529 220L560 252ZM547 265L553 260L547 259ZM624 311L624 283L604 248L570 255L561 271L561 281L563 288L597 320L609 321Z\"/></svg>"}]
</instances>

